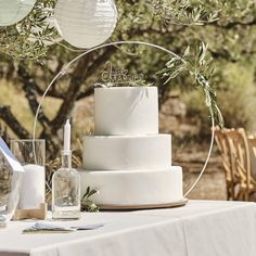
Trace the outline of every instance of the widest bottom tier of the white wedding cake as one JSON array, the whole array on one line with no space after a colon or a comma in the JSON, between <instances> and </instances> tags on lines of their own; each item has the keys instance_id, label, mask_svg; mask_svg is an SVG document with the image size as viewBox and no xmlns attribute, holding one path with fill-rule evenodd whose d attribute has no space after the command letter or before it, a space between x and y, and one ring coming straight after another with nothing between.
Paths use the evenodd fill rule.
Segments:
<instances>
[{"instance_id":1,"label":"widest bottom tier of the white wedding cake","mask_svg":"<svg viewBox=\"0 0 256 256\"><path fill-rule=\"evenodd\" d=\"M92 200L102 206L135 207L165 205L183 199L182 168L168 170L80 171L81 195L90 187L99 191Z\"/></svg>"}]
</instances>

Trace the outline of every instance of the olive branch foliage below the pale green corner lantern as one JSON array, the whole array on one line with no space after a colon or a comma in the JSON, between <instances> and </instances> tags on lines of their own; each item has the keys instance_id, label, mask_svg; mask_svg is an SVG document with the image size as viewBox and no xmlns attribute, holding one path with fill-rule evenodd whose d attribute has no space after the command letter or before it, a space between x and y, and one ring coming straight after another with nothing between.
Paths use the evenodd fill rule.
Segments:
<instances>
[{"instance_id":1,"label":"olive branch foliage below the pale green corner lantern","mask_svg":"<svg viewBox=\"0 0 256 256\"><path fill-rule=\"evenodd\" d=\"M59 37L48 24L56 0L37 0L31 12L20 23L0 27L0 53L14 60L38 60L46 56L49 42Z\"/></svg>"}]
</instances>

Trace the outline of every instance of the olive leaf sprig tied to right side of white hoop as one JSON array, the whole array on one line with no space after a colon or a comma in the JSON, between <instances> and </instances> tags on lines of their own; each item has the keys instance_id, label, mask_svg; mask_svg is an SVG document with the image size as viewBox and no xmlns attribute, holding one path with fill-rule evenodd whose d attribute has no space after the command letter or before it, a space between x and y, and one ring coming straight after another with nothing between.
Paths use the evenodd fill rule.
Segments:
<instances>
[{"instance_id":1,"label":"olive leaf sprig tied to right side of white hoop","mask_svg":"<svg viewBox=\"0 0 256 256\"><path fill-rule=\"evenodd\" d=\"M204 90L205 103L209 108L210 116L215 118L217 125L223 126L223 118L217 105L216 91L209 86L214 63L207 52L207 44L201 42L194 49L188 47L182 56L174 55L165 64L165 68L157 74L166 78L165 84L168 84L183 72L188 72L194 78L194 84Z\"/></svg>"}]
</instances>

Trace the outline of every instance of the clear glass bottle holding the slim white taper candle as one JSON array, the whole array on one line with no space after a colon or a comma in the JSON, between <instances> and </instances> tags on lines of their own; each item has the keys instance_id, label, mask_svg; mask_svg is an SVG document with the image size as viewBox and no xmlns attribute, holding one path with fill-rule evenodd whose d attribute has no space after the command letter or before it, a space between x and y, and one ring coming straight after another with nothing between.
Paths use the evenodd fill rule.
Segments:
<instances>
[{"instance_id":1,"label":"clear glass bottle holding the slim white taper candle","mask_svg":"<svg viewBox=\"0 0 256 256\"><path fill-rule=\"evenodd\" d=\"M72 168L72 152L62 153L62 167L52 177L52 218L80 218L80 175Z\"/></svg>"}]
</instances>

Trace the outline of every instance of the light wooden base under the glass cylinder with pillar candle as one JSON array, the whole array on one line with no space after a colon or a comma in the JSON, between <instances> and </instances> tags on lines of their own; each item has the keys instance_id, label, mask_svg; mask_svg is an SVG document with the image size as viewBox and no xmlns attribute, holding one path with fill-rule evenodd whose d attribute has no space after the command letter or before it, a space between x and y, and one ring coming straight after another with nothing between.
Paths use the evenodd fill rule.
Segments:
<instances>
[{"instance_id":1,"label":"light wooden base under the glass cylinder with pillar candle","mask_svg":"<svg viewBox=\"0 0 256 256\"><path fill-rule=\"evenodd\" d=\"M12 220L21 219L46 219L47 217L47 203L40 204L36 209L16 209Z\"/></svg>"}]
</instances>

